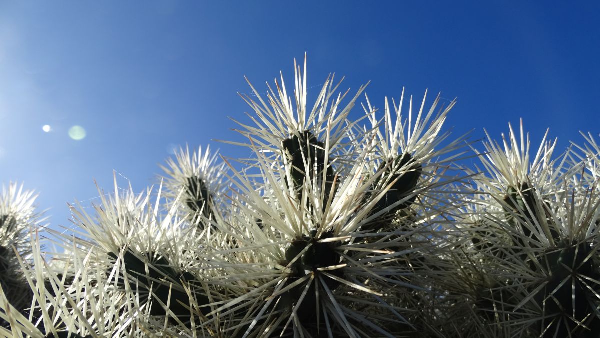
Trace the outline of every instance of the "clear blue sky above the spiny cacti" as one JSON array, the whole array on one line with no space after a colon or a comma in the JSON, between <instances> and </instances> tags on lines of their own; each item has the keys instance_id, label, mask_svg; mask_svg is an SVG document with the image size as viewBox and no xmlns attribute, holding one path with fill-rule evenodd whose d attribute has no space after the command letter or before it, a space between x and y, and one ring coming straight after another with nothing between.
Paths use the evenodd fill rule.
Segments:
<instances>
[{"instance_id":1,"label":"clear blue sky above the spiny cacti","mask_svg":"<svg viewBox=\"0 0 600 338\"><path fill-rule=\"evenodd\" d=\"M457 136L500 138L523 118L534 145L550 128L560 152L599 133L593 3L0 0L0 183L37 190L68 226L67 202L98 201L94 180L110 192L114 170L141 191L173 145L243 157L214 139L241 139L228 116L250 110L244 75L259 90L280 70L291 84L305 52L314 92L329 73L344 90L371 81L379 107L429 88L458 98Z\"/></svg>"}]
</instances>

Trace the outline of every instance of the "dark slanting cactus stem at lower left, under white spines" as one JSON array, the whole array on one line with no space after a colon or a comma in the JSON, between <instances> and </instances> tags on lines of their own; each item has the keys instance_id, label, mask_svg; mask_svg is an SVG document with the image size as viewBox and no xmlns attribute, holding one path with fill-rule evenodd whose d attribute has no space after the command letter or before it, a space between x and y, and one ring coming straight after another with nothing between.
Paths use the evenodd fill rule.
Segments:
<instances>
[{"instance_id":1,"label":"dark slanting cactus stem at lower left, under white spines","mask_svg":"<svg viewBox=\"0 0 600 338\"><path fill-rule=\"evenodd\" d=\"M117 259L115 253L109 252L109 256L113 259ZM150 290L152 289L152 298L154 300L160 300L164 306L169 303L169 310L173 312L177 318L182 322L190 321L190 297L182 291L182 283L193 283L196 282L194 276L191 273L177 273L171 267L169 261L164 256L158 256L155 258L154 252L149 252L141 255L144 259L138 258L133 252L127 250L122 260L125 264L125 274L130 282L131 289L136 291L136 280L139 284L139 299L140 304L148 303L150 299ZM111 270L112 271L112 270ZM107 271L107 275L111 271ZM125 288L124 271L120 271L119 276L116 278L115 285L119 288ZM154 282L154 280L160 280L161 282ZM171 287L172 285L172 287ZM179 287L179 288L178 288ZM170 289L171 288L171 289ZM170 290L169 290L170 289ZM170 292L170 299L169 299ZM193 292L193 289L192 289ZM209 299L203 294L194 294L197 303L202 306L209 304ZM208 307L202 307L200 309L204 315L207 315L210 310ZM149 309L149 312L153 316L166 316L167 309L163 307L158 301L153 301ZM173 324L176 321L170 319Z\"/></svg>"}]
</instances>

